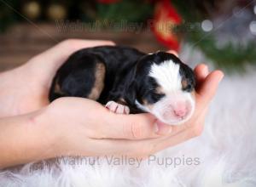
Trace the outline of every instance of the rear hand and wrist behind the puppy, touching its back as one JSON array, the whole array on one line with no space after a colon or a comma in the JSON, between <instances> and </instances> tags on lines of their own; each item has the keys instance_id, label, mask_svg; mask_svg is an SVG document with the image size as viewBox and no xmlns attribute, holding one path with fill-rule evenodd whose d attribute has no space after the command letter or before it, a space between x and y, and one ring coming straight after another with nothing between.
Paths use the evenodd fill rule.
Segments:
<instances>
[{"instance_id":1,"label":"rear hand and wrist behind the puppy, touching its back","mask_svg":"<svg viewBox=\"0 0 256 187\"><path fill-rule=\"evenodd\" d=\"M110 41L69 39L11 71L0 73L0 117L36 111L49 104L49 87L57 69L80 48L113 45Z\"/></svg>"}]
</instances>

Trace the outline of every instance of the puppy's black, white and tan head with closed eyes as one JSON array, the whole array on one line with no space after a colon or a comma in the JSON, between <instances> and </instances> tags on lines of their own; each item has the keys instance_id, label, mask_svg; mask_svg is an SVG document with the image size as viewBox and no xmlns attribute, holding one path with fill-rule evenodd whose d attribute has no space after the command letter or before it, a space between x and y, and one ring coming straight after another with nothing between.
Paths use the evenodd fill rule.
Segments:
<instances>
[{"instance_id":1,"label":"puppy's black, white and tan head with closed eyes","mask_svg":"<svg viewBox=\"0 0 256 187\"><path fill-rule=\"evenodd\" d=\"M195 75L174 54L158 52L139 59L132 86L137 107L161 122L177 125L195 110Z\"/></svg>"}]
</instances>

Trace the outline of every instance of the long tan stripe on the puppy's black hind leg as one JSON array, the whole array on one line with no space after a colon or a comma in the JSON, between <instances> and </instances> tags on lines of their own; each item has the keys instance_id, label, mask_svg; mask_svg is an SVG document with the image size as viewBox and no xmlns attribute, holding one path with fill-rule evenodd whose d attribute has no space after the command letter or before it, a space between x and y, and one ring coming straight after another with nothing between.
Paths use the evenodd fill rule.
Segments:
<instances>
[{"instance_id":1,"label":"long tan stripe on the puppy's black hind leg","mask_svg":"<svg viewBox=\"0 0 256 187\"><path fill-rule=\"evenodd\" d=\"M90 94L88 95L89 99L99 99L100 95L102 94L102 90L104 88L104 80L105 80L105 65L102 63L96 64L96 71L95 71L95 82L94 86L91 89Z\"/></svg>"}]
</instances>

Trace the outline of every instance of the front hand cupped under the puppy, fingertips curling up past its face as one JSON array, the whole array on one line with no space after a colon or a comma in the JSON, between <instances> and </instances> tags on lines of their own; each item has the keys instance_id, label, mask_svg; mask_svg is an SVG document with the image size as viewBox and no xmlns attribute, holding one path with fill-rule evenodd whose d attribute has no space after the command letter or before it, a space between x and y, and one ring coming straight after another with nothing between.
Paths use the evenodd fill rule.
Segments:
<instances>
[{"instance_id":1,"label":"front hand cupped under the puppy, fingertips curling up past its face","mask_svg":"<svg viewBox=\"0 0 256 187\"><path fill-rule=\"evenodd\" d=\"M149 156L201 134L208 105L224 75L198 65L195 76L195 114L180 126L168 126L150 114L115 114L81 98L56 99L35 122L49 124L55 132L55 156Z\"/></svg>"}]
</instances>

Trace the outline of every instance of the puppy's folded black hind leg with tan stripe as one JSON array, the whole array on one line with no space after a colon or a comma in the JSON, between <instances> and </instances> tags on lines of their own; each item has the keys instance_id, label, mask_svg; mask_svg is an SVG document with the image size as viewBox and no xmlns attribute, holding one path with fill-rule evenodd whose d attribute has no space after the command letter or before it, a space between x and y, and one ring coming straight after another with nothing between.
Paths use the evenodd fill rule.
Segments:
<instances>
[{"instance_id":1,"label":"puppy's folded black hind leg with tan stripe","mask_svg":"<svg viewBox=\"0 0 256 187\"><path fill-rule=\"evenodd\" d=\"M95 56L73 54L57 72L49 101L65 96L97 100L104 88L105 74L105 65Z\"/></svg>"}]
</instances>

